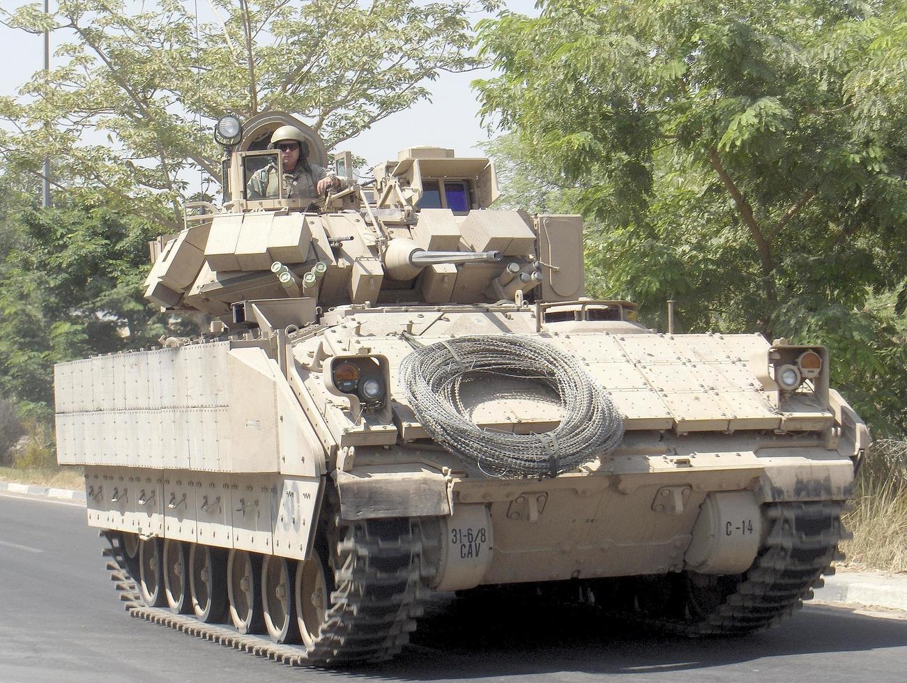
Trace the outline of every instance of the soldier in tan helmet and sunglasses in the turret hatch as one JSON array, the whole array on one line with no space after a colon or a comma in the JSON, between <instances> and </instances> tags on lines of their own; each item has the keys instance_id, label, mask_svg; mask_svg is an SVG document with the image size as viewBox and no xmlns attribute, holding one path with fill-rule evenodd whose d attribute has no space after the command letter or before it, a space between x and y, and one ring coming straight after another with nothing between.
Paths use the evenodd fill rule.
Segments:
<instances>
[{"instance_id":1,"label":"soldier in tan helmet and sunglasses in the turret hatch","mask_svg":"<svg viewBox=\"0 0 907 683\"><path fill-rule=\"evenodd\" d=\"M295 126L280 126L271 135L271 148L283 152L284 194L289 198L314 199L327 190L341 190L343 181L332 172L308 162L306 136ZM249 180L250 200L275 197L278 193L277 168L268 165Z\"/></svg>"}]
</instances>

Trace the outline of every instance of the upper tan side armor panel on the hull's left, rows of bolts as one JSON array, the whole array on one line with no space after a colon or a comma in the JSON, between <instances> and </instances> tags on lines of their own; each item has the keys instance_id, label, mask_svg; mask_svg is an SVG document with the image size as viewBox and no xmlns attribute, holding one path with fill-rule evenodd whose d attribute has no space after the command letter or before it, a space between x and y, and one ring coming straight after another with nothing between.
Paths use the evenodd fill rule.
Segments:
<instances>
[{"instance_id":1,"label":"upper tan side armor panel on the hull's left, rows of bolts","mask_svg":"<svg viewBox=\"0 0 907 683\"><path fill-rule=\"evenodd\" d=\"M312 427L261 348L211 342L96 356L55 376L60 463L323 472Z\"/></svg>"}]
</instances>

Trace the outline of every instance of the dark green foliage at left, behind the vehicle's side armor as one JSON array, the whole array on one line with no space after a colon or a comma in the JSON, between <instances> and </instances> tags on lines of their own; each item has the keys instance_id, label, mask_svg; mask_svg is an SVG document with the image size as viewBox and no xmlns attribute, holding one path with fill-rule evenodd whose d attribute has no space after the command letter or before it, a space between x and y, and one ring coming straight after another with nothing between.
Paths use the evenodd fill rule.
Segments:
<instances>
[{"instance_id":1,"label":"dark green foliage at left, behind the vehicle's side armor","mask_svg":"<svg viewBox=\"0 0 907 683\"><path fill-rule=\"evenodd\" d=\"M151 346L167 329L142 298L155 227L108 206L26 208L0 261L0 394L53 413L54 363Z\"/></svg>"}]
</instances>

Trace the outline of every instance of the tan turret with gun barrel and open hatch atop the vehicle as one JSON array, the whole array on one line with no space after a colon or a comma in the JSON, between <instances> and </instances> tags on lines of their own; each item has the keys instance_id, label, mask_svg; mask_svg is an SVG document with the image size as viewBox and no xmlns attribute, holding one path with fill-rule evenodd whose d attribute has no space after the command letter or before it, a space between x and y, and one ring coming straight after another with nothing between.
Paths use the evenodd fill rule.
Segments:
<instances>
[{"instance_id":1,"label":"tan turret with gun barrel and open hatch atop the vehicle","mask_svg":"<svg viewBox=\"0 0 907 683\"><path fill-rule=\"evenodd\" d=\"M278 181L274 196L251 197L252 174L281 168L282 152L269 141L287 125L305 139L311 168L340 178L342 189L287 197ZM249 299L314 298L333 307L582 293L579 217L491 209L498 190L486 158L414 147L359 182L351 154L329 161L317 133L288 114L221 122L218 130L223 205L190 204L185 229L151 244L146 295L161 307L201 311L229 327L232 307Z\"/></svg>"}]
</instances>

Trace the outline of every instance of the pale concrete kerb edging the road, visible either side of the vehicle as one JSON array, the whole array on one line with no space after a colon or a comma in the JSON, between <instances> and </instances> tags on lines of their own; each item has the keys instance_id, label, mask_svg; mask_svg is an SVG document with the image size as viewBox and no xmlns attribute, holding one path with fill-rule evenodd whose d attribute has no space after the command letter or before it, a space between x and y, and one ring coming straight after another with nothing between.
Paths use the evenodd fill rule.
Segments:
<instances>
[{"instance_id":1,"label":"pale concrete kerb edging the road, visible either side of the vehicle","mask_svg":"<svg viewBox=\"0 0 907 683\"><path fill-rule=\"evenodd\" d=\"M85 502L85 492L54 489L34 484L0 482L0 493L19 493ZM907 618L907 574L884 574L879 571L842 571L824 578L823 588L814 590L811 602L819 604L865 605L888 610L903 610Z\"/></svg>"}]
</instances>

